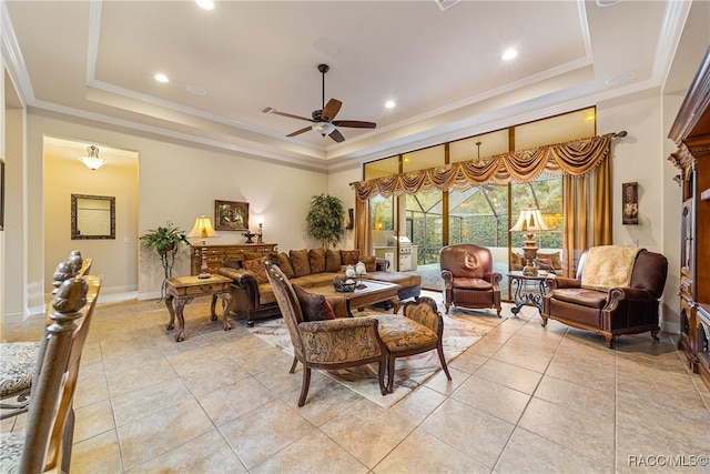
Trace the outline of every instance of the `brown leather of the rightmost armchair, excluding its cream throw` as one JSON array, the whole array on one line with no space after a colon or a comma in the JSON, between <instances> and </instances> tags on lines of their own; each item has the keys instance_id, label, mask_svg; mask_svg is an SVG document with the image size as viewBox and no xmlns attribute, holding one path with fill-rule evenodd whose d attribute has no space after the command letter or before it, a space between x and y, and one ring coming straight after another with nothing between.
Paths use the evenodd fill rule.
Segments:
<instances>
[{"instance_id":1,"label":"brown leather of the rightmost armchair, excluding its cream throw","mask_svg":"<svg viewBox=\"0 0 710 474\"><path fill-rule=\"evenodd\" d=\"M633 262L629 286L607 291L582 288L585 252L576 279L548 279L548 292L542 297L542 325L557 320L572 327L602 334L612 347L620 334L651 332L658 341L658 305L668 275L668 260L660 253L640 250Z\"/></svg>"}]
</instances>

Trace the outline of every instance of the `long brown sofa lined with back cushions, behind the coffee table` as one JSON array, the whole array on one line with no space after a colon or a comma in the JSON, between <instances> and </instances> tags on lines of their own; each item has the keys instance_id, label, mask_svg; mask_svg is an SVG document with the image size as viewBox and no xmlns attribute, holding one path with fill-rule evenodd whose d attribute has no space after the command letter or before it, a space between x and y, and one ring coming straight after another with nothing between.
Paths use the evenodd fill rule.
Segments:
<instances>
[{"instance_id":1,"label":"long brown sofa lined with back cushions, behind the coffee table","mask_svg":"<svg viewBox=\"0 0 710 474\"><path fill-rule=\"evenodd\" d=\"M365 279L396 283L400 301L422 292L422 276L414 272L387 272L388 262L374 256L361 256L357 250L303 249L288 252L246 254L243 261L227 260L217 274L232 279L230 312L252 325L255 320L281 314L276 296L268 283L263 259L277 264L293 284L302 288L332 284L344 276L345 266L365 263Z\"/></svg>"}]
</instances>

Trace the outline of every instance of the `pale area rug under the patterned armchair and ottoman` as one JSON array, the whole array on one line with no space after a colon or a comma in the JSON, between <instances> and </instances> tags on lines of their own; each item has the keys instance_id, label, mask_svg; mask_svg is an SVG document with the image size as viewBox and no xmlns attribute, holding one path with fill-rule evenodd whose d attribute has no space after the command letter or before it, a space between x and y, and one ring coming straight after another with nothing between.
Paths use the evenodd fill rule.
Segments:
<instances>
[{"instance_id":1,"label":"pale area rug under the patterned armchair and ottoman","mask_svg":"<svg viewBox=\"0 0 710 474\"><path fill-rule=\"evenodd\" d=\"M382 313L383 311L365 309L358 312L357 316L365 316L375 312ZM505 321L505 317L497 317L493 310L477 312L452 309L450 314L444 314L444 311L442 311L442 314L444 317L444 356L447 363L454 361L476 341ZM256 323L250 331L255 336L293 356L288 330L282 317ZM395 362L394 393L385 396L379 393L377 364L318 372L326 374L347 389L383 407L390 407L440 370L442 365L436 351L399 357Z\"/></svg>"}]
</instances>

